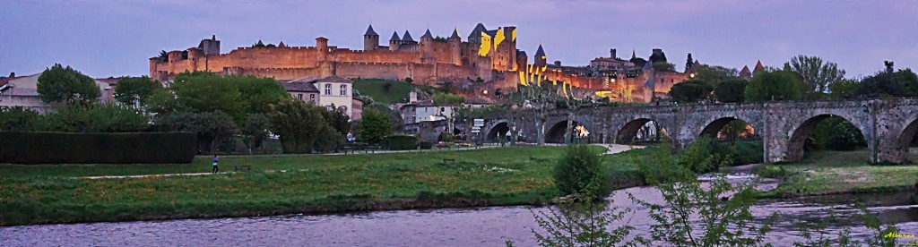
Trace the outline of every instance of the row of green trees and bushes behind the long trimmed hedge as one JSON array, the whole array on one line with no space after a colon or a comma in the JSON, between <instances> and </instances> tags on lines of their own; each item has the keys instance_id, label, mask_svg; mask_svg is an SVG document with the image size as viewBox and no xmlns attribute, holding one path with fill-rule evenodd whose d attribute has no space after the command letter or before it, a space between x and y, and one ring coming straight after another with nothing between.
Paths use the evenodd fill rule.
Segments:
<instances>
[{"instance_id":1,"label":"row of green trees and bushes behind the long trimmed hedge","mask_svg":"<svg viewBox=\"0 0 918 247\"><path fill-rule=\"evenodd\" d=\"M340 149L354 129L391 134L391 118L373 108L364 112L372 124L353 126L343 110L293 99L271 78L184 72L163 84L148 77L123 77L114 103L101 103L95 81L71 67L55 64L38 79L46 114L22 107L0 108L0 131L72 133L191 132L198 153L265 152L264 141L277 136L284 153ZM377 130L376 128L383 128ZM364 134L368 140L381 137Z\"/></svg>"}]
</instances>

